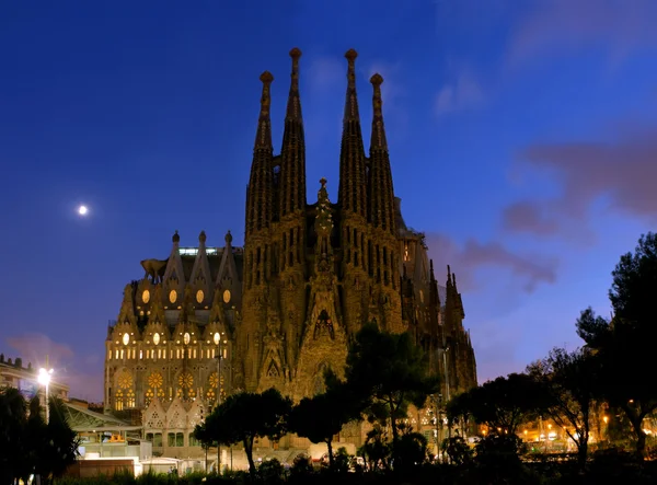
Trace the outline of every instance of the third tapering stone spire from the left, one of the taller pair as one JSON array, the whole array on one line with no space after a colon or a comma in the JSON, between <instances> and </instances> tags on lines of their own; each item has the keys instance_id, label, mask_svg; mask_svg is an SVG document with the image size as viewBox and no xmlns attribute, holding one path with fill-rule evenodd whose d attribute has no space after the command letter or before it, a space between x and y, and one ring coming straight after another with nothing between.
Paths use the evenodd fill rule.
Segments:
<instances>
[{"instance_id":1,"label":"third tapering stone spire from the left, one of the taller pair","mask_svg":"<svg viewBox=\"0 0 657 485\"><path fill-rule=\"evenodd\" d=\"M343 119L343 135L339 154L338 203L342 209L367 217L367 180L365 148L356 96L356 67L358 54L349 49L345 57L347 69L347 97Z\"/></svg>"}]
</instances>

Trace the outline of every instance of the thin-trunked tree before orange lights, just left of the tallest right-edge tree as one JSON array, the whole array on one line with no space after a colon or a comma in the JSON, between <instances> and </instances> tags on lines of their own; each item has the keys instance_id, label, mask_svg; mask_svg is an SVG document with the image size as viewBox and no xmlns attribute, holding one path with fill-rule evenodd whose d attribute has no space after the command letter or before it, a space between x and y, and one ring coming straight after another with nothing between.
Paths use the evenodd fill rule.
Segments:
<instances>
[{"instance_id":1,"label":"thin-trunked tree before orange lights, just left of the tallest right-edge tree","mask_svg":"<svg viewBox=\"0 0 657 485\"><path fill-rule=\"evenodd\" d=\"M587 349L572 353L554 348L528 373L543 388L543 411L565 429L577 446L578 462L586 464L590 415L596 395L598 362Z\"/></svg>"}]
</instances>

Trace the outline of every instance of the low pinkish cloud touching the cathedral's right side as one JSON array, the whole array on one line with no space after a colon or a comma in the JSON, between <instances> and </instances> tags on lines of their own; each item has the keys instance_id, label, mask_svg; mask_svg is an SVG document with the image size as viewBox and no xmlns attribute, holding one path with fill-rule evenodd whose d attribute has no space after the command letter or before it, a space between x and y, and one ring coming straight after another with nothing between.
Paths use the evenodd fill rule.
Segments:
<instances>
[{"instance_id":1,"label":"low pinkish cloud touching the cathedral's right side","mask_svg":"<svg viewBox=\"0 0 657 485\"><path fill-rule=\"evenodd\" d=\"M475 273L482 267L499 267L509 272L521 281L527 292L532 292L541 282L554 282L556 265L543 257L520 255L509 251L497 242L481 243L474 239L459 245L443 234L427 234L427 244L435 268L445 268L448 264L459 274L461 290L472 290L477 286ZM442 277L437 275L439 281Z\"/></svg>"}]
</instances>

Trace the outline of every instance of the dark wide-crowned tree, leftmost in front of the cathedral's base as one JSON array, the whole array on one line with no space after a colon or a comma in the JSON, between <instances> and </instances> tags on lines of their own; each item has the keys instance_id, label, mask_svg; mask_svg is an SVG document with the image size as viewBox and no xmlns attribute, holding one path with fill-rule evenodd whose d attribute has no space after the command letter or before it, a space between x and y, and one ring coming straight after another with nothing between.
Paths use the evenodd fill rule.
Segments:
<instances>
[{"instance_id":1,"label":"dark wide-crowned tree, leftmost in front of the cathedral's base","mask_svg":"<svg viewBox=\"0 0 657 485\"><path fill-rule=\"evenodd\" d=\"M292 402L275 389L261 394L242 392L230 395L206 418L211 440L221 444L243 443L249 472L255 478L253 441L256 437L279 439L287 431L287 418Z\"/></svg>"}]
</instances>

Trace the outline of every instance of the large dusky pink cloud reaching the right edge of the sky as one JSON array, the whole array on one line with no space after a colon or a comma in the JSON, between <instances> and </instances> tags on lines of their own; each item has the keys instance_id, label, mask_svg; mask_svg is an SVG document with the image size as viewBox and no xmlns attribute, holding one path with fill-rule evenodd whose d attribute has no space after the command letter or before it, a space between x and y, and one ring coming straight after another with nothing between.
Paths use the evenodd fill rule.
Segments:
<instances>
[{"instance_id":1,"label":"large dusky pink cloud reaching the right edge of the sky","mask_svg":"<svg viewBox=\"0 0 657 485\"><path fill-rule=\"evenodd\" d=\"M555 173L563 192L553 200L526 199L507 207L503 226L511 232L564 232L568 224L586 221L599 200L626 215L657 219L657 128L612 142L533 145L522 159Z\"/></svg>"}]
</instances>

